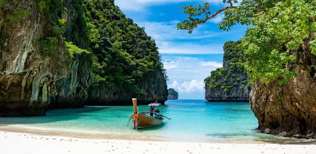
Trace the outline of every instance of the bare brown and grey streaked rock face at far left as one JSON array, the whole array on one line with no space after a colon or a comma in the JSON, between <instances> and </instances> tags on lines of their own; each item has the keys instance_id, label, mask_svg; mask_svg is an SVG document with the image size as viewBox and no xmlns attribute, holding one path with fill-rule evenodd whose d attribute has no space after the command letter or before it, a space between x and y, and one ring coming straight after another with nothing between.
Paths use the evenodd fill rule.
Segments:
<instances>
[{"instance_id":1,"label":"bare brown and grey streaked rock face at far left","mask_svg":"<svg viewBox=\"0 0 316 154\"><path fill-rule=\"evenodd\" d=\"M64 87L68 88L67 92L64 92L67 97L78 98L78 94L82 93L79 90L81 83L63 84L63 81L82 73L78 66L84 63L80 61L84 57L79 58L76 55L74 61L71 57L66 58L65 43L60 33L56 35L57 56L44 56L39 53L38 42L54 34L47 12L33 0L4 2L0 6L0 116L45 115L45 109L51 99L60 99L61 96L56 96L63 93ZM21 14L21 10L22 13L23 10L26 11L26 15L14 21L9 19L12 14ZM72 64L69 68L65 64L70 62ZM88 65L87 67L91 68L91 65ZM91 77L88 72L84 73L87 75L82 76L81 80ZM87 84L86 81L83 85Z\"/></svg>"}]
</instances>

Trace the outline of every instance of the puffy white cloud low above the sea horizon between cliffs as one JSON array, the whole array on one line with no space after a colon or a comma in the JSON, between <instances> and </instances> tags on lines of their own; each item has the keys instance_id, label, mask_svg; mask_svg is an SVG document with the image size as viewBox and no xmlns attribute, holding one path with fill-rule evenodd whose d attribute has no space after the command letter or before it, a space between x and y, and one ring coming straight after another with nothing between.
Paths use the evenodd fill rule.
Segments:
<instances>
[{"instance_id":1,"label":"puffy white cloud low above the sea horizon between cliffs","mask_svg":"<svg viewBox=\"0 0 316 154\"><path fill-rule=\"evenodd\" d=\"M168 85L168 88L173 88L179 93L203 93L204 92L204 82L191 80L190 82L183 82L179 84L177 81L173 81L172 84Z\"/></svg>"}]
</instances>

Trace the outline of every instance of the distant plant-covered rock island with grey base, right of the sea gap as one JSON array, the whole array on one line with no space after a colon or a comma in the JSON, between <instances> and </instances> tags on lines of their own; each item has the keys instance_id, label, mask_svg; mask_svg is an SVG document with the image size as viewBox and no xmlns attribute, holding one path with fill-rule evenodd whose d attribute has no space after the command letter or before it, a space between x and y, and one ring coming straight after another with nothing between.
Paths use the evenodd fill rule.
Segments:
<instances>
[{"instance_id":1,"label":"distant plant-covered rock island with grey base, right of the sea gap","mask_svg":"<svg viewBox=\"0 0 316 154\"><path fill-rule=\"evenodd\" d=\"M211 72L204 79L205 99L215 102L248 102L251 85L249 77L243 66L237 64L244 62L244 55L237 46L240 41L228 41L224 44L223 67Z\"/></svg>"}]
</instances>

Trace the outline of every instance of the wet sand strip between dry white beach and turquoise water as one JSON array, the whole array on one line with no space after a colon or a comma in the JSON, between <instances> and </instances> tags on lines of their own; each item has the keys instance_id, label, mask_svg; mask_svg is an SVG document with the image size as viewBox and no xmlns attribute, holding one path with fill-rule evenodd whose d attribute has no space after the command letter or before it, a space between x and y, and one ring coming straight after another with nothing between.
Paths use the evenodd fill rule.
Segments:
<instances>
[{"instance_id":1,"label":"wet sand strip between dry white beach and turquoise water","mask_svg":"<svg viewBox=\"0 0 316 154\"><path fill-rule=\"evenodd\" d=\"M316 144L315 139L294 139L283 138L278 139L266 137L258 138L215 138L211 140L194 140L183 138L166 138L160 136L159 133L144 134L135 130L134 133L118 133L118 132L105 132L105 131L91 131L91 130L63 130L63 129L47 129L46 127L25 127L19 125L1 125L0 131L30 133L36 135L46 136L67 136L72 138L82 139L120 139L120 140L140 140L140 141L169 141L169 142L194 142L194 143L234 143L234 144ZM185 134L184 134L185 135ZM271 135L272 136L272 135Z\"/></svg>"}]
</instances>

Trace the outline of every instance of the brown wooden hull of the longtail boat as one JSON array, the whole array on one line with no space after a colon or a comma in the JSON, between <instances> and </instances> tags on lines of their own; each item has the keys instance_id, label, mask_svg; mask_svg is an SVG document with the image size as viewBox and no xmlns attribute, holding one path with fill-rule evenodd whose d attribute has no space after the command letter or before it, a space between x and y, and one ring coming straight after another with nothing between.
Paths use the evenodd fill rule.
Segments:
<instances>
[{"instance_id":1,"label":"brown wooden hull of the longtail boat","mask_svg":"<svg viewBox=\"0 0 316 154\"><path fill-rule=\"evenodd\" d=\"M134 116L131 115L130 118L133 120ZM155 127L162 124L163 120L155 119L150 116L138 114L138 117L136 117L136 127L138 129L145 128L145 127Z\"/></svg>"}]
</instances>

